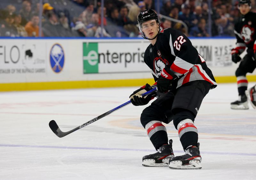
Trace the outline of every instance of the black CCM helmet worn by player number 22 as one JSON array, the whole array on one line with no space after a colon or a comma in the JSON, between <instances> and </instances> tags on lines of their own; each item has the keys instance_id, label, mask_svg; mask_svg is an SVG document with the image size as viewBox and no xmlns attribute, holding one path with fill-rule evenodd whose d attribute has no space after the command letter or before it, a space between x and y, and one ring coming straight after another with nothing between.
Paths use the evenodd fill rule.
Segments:
<instances>
[{"instance_id":1,"label":"black CCM helmet worn by player number 22","mask_svg":"<svg viewBox=\"0 0 256 180\"><path fill-rule=\"evenodd\" d=\"M139 16L138 16L138 24L139 24L139 29L140 32L142 32L142 23L148 21L148 20L156 20L156 23L159 25L159 32L160 32L160 19L158 18L156 12L152 9L147 9L145 11L140 12ZM158 32L158 33L159 33ZM143 33L143 32L142 32ZM142 36L145 39L148 39L145 34L143 33L144 36ZM156 35L157 36L157 35ZM154 37L153 39L155 39L156 37ZM152 40L152 39L149 39Z\"/></svg>"}]
</instances>

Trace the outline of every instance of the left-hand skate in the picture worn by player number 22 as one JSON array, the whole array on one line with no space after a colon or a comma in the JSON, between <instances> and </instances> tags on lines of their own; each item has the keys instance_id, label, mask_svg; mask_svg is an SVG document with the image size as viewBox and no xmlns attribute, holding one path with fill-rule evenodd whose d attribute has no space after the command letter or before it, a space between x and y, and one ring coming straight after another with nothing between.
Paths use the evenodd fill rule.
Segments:
<instances>
[{"instance_id":1,"label":"left-hand skate in the picture worn by player number 22","mask_svg":"<svg viewBox=\"0 0 256 180\"><path fill-rule=\"evenodd\" d=\"M161 146L155 154L143 156L142 165L148 167L167 167L169 160L173 157L172 139L170 139L169 144Z\"/></svg>"}]
</instances>

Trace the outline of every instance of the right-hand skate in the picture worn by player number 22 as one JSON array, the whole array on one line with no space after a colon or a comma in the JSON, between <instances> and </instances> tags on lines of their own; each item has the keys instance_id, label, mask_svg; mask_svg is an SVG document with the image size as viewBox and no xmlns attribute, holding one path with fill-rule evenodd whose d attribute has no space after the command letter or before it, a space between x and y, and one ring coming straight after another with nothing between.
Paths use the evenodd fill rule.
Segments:
<instances>
[{"instance_id":1,"label":"right-hand skate in the picture worn by player number 22","mask_svg":"<svg viewBox=\"0 0 256 180\"><path fill-rule=\"evenodd\" d=\"M185 150L185 155L176 156L170 159L169 168L171 169L201 169L200 162L202 161L199 143L196 146L191 146Z\"/></svg>"}]
</instances>

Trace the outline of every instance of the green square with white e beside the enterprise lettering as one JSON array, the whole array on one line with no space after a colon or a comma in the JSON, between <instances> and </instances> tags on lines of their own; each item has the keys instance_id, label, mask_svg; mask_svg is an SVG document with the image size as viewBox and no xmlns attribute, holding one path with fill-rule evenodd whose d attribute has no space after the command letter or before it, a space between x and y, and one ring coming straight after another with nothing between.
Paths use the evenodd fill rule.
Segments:
<instances>
[{"instance_id":1,"label":"green square with white e beside the enterprise lettering","mask_svg":"<svg viewBox=\"0 0 256 180\"><path fill-rule=\"evenodd\" d=\"M99 72L98 42L83 43L84 74Z\"/></svg>"}]
</instances>

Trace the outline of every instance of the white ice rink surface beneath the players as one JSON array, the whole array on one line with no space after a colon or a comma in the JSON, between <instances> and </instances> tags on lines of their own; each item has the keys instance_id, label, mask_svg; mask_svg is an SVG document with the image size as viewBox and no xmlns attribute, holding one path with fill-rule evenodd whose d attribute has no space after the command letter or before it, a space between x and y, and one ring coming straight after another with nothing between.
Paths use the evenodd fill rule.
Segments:
<instances>
[{"instance_id":1,"label":"white ice rink surface beneath the players","mask_svg":"<svg viewBox=\"0 0 256 180\"><path fill-rule=\"evenodd\" d=\"M0 179L256 178L256 109L230 109L237 99L235 83L210 90L196 117L200 170L141 165L144 155L156 152L140 124L146 106L130 104L63 138L49 128L54 119L69 131L129 101L137 88L1 92ZM172 122L166 128L174 155L184 154Z\"/></svg>"}]
</instances>

